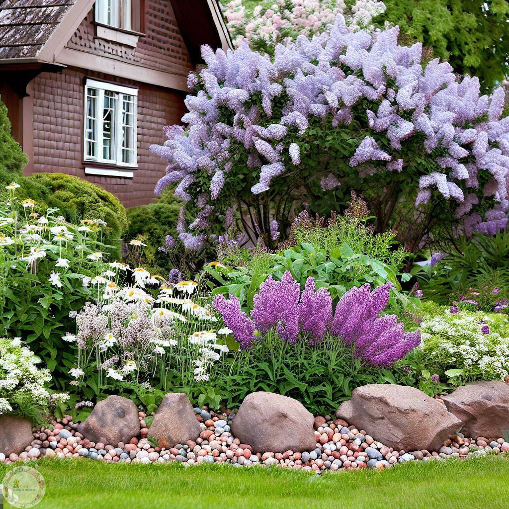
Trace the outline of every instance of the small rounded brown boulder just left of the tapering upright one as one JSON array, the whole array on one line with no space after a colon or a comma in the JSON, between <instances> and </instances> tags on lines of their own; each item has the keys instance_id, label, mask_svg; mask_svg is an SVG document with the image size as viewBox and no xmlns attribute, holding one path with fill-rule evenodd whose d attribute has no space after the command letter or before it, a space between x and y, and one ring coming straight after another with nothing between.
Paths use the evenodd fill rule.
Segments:
<instances>
[{"instance_id":1,"label":"small rounded brown boulder just left of the tapering upright one","mask_svg":"<svg viewBox=\"0 0 509 509\"><path fill-rule=\"evenodd\" d=\"M100 401L79 427L79 432L91 442L105 445L128 443L139 435L136 405L122 396L109 396Z\"/></svg>"}]
</instances>

